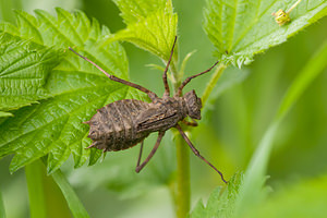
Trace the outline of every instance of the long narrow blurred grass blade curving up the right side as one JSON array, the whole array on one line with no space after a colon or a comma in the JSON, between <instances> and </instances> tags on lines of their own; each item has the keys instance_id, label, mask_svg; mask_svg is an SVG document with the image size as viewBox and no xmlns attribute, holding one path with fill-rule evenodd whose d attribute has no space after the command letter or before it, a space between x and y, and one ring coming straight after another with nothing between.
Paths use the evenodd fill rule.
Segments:
<instances>
[{"instance_id":1,"label":"long narrow blurred grass blade curving up the right side","mask_svg":"<svg viewBox=\"0 0 327 218\"><path fill-rule=\"evenodd\" d=\"M237 214L239 216L246 214L265 196L266 193L262 189L266 180L265 174L277 130L282 119L300 98L301 94L304 93L305 88L327 68L326 57L327 41L306 63L286 93L272 123L266 131L246 169L244 183L240 189L240 197L238 198Z\"/></svg>"}]
</instances>

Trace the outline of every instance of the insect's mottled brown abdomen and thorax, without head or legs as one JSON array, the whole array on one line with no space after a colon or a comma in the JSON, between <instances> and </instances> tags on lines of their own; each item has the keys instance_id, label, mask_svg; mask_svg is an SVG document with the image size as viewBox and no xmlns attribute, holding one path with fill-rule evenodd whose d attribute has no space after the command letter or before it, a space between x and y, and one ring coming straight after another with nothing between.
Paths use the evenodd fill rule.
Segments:
<instances>
[{"instance_id":1,"label":"insect's mottled brown abdomen and thorax, without head or legs","mask_svg":"<svg viewBox=\"0 0 327 218\"><path fill-rule=\"evenodd\" d=\"M184 98L164 97L154 102L123 99L97 110L86 123L90 147L122 150L142 142L152 132L166 131L187 116Z\"/></svg>"}]
</instances>

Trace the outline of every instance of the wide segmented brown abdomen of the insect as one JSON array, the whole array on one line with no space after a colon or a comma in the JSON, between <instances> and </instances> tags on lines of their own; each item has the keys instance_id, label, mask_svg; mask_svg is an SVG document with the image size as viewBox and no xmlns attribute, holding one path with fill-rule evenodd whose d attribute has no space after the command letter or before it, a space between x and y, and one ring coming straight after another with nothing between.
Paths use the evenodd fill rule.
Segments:
<instances>
[{"instance_id":1,"label":"wide segmented brown abdomen of the insect","mask_svg":"<svg viewBox=\"0 0 327 218\"><path fill-rule=\"evenodd\" d=\"M148 104L123 99L100 109L86 123L89 124L88 137L94 141L90 147L106 152L130 148L142 142L149 133L136 132L136 117L148 108Z\"/></svg>"}]
</instances>

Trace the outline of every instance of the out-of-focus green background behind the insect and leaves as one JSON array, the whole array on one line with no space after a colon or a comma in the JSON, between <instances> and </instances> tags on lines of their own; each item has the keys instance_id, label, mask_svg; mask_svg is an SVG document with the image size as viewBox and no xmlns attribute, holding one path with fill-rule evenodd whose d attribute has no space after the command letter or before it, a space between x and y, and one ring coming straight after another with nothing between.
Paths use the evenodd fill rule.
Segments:
<instances>
[{"instance_id":1,"label":"out-of-focus green background behind the insect and leaves","mask_svg":"<svg viewBox=\"0 0 327 218\"><path fill-rule=\"evenodd\" d=\"M0 0L0 19L14 22L12 9L33 13L44 9L55 14L60 7L80 9L96 17L112 33L124 27L119 10L110 0ZM214 46L203 28L205 1L174 0L179 16L179 53L197 50L186 66L191 75L207 69L215 59ZM271 117L275 114L287 87L299 71L319 48L327 36L327 17L305 28L281 46L256 56L255 61L242 69L242 83L223 92L205 113L199 126L193 131L192 141L201 153L230 178L244 170ZM124 43L130 60L131 80L162 94L161 72L146 64L161 62L154 56ZM326 58L327 61L327 58ZM228 69L225 74L235 69ZM209 76L192 83L190 88L202 94ZM63 171L75 187L90 217L173 217L174 208L167 184L171 183L175 166L172 134L165 136L156 157L141 174L134 173L138 147L122 153L108 154L95 167L73 170L72 162ZM155 141L146 141L150 149ZM275 138L269 161L268 185L272 191L300 181L327 173L327 71L304 93ZM148 150L147 149L147 150ZM9 218L28 217L28 197L24 170L9 174L11 157L0 160L0 190ZM66 205L53 182L46 178L47 201L51 203L51 217L65 217ZM191 154L192 206L221 184L215 171ZM61 215L61 214L62 215ZM70 216L68 216L70 217Z\"/></svg>"}]
</instances>

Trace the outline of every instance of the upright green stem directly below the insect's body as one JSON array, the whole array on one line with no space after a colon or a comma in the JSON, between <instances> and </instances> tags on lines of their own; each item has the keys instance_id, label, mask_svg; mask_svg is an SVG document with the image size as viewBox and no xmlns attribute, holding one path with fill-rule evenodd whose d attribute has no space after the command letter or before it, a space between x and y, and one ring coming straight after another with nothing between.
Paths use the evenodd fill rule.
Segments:
<instances>
[{"instance_id":1,"label":"upright green stem directly below the insect's body","mask_svg":"<svg viewBox=\"0 0 327 218\"><path fill-rule=\"evenodd\" d=\"M190 211L190 148L181 135L175 138L177 145L177 217L184 218Z\"/></svg>"}]
</instances>

